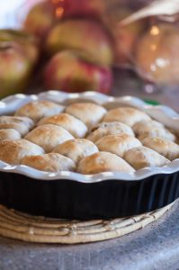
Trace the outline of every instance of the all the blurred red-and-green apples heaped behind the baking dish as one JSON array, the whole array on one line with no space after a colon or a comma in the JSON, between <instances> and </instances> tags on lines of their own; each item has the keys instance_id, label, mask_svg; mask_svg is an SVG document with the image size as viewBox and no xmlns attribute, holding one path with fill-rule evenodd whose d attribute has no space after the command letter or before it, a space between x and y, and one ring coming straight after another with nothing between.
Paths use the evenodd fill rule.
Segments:
<instances>
[{"instance_id":1,"label":"all the blurred red-and-green apples heaped behind the baking dish","mask_svg":"<svg viewBox=\"0 0 179 270\"><path fill-rule=\"evenodd\" d=\"M45 0L22 30L0 30L0 97L24 91L40 74L45 89L109 93L112 66L130 65L150 82L179 84L179 29L172 23L121 27L125 8L103 0Z\"/></svg>"}]
</instances>

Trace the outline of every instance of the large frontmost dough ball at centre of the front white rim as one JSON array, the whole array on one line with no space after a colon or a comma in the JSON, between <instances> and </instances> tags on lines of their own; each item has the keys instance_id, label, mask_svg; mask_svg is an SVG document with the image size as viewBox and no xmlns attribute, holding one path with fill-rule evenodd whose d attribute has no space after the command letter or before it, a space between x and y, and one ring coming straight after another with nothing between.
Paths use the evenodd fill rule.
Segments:
<instances>
[{"instance_id":1,"label":"large frontmost dough ball at centre of the front white rim","mask_svg":"<svg viewBox=\"0 0 179 270\"><path fill-rule=\"evenodd\" d=\"M77 166L77 172L84 175L93 175L103 172L134 172L125 160L112 153L98 152L82 158Z\"/></svg>"}]
</instances>

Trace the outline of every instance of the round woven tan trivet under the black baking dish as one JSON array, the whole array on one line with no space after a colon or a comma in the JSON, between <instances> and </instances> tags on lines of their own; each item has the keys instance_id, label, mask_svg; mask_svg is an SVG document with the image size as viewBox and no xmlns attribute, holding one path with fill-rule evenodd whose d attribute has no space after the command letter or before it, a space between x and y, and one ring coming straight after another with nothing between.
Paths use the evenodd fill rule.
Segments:
<instances>
[{"instance_id":1,"label":"round woven tan trivet under the black baking dish","mask_svg":"<svg viewBox=\"0 0 179 270\"><path fill-rule=\"evenodd\" d=\"M36 243L76 244L118 238L157 220L172 207L113 220L56 220L9 210L0 205L0 236Z\"/></svg>"}]
</instances>

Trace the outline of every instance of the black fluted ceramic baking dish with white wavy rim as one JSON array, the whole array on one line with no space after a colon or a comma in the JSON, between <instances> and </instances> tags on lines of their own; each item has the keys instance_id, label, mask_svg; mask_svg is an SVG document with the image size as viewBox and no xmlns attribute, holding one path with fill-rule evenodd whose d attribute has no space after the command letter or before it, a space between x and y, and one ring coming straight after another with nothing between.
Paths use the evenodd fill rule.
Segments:
<instances>
[{"instance_id":1,"label":"black fluted ceramic baking dish with white wavy rim","mask_svg":"<svg viewBox=\"0 0 179 270\"><path fill-rule=\"evenodd\" d=\"M179 132L179 114L169 107L148 105L132 96L112 97L94 92L15 94L0 102L0 115L11 114L32 100L62 104L92 101L107 109L130 105ZM179 159L163 167L147 167L132 174L106 172L97 175L46 173L0 161L0 203L34 215L81 220L127 217L164 207L178 196Z\"/></svg>"}]
</instances>

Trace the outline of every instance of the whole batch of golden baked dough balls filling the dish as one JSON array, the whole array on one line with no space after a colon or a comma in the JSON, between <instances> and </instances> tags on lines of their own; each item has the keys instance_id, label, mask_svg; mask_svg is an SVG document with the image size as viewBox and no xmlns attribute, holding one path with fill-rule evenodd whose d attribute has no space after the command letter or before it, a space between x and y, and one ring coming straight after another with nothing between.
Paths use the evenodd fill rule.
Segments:
<instances>
[{"instance_id":1,"label":"whole batch of golden baked dough balls filling the dish","mask_svg":"<svg viewBox=\"0 0 179 270\"><path fill-rule=\"evenodd\" d=\"M33 101L0 116L0 160L47 172L132 173L179 157L176 135L132 107Z\"/></svg>"}]
</instances>

